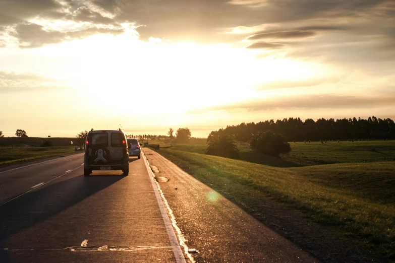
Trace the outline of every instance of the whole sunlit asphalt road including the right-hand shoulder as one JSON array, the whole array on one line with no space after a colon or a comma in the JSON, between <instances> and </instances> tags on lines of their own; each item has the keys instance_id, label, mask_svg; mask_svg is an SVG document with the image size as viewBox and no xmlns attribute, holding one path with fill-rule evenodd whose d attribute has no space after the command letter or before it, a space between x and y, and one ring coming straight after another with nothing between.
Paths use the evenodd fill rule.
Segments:
<instances>
[{"instance_id":1,"label":"whole sunlit asphalt road including the right-hand shoulder","mask_svg":"<svg viewBox=\"0 0 395 263\"><path fill-rule=\"evenodd\" d=\"M129 176L83 176L82 154L0 168L0 262L318 261L144 152L130 159Z\"/></svg>"}]
</instances>

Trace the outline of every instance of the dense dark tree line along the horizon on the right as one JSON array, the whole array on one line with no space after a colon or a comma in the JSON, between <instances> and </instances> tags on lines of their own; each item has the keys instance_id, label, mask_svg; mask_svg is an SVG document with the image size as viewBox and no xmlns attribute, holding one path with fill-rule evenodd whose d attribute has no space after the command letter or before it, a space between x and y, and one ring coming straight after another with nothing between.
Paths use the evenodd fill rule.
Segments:
<instances>
[{"instance_id":1,"label":"dense dark tree line along the horizon on the right","mask_svg":"<svg viewBox=\"0 0 395 263\"><path fill-rule=\"evenodd\" d=\"M210 135L229 135L236 141L247 142L257 133L271 131L283 135L291 141L348 140L348 139L394 139L395 123L390 118L380 119L375 116L361 118L320 118L314 121L298 118L284 118L228 125L226 128L211 131Z\"/></svg>"}]
</instances>

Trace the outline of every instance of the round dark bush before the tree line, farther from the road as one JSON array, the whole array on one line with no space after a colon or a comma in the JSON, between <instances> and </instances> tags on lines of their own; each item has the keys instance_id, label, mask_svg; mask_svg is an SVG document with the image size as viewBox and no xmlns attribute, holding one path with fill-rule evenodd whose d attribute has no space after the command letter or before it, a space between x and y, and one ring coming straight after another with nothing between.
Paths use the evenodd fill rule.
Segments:
<instances>
[{"instance_id":1,"label":"round dark bush before the tree line, farther from the road","mask_svg":"<svg viewBox=\"0 0 395 263\"><path fill-rule=\"evenodd\" d=\"M291 151L291 146L287 143L286 138L272 131L253 135L250 147L258 152L276 157L278 157L280 153L288 153Z\"/></svg>"}]
</instances>

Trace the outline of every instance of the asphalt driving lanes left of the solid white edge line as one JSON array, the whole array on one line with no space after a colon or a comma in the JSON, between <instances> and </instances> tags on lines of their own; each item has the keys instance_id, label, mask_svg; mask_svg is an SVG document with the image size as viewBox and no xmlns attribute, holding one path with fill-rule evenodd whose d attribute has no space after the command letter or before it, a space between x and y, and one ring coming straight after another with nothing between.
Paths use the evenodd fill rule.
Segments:
<instances>
[{"instance_id":1,"label":"asphalt driving lanes left of the solid white edge line","mask_svg":"<svg viewBox=\"0 0 395 263\"><path fill-rule=\"evenodd\" d=\"M0 170L0 262L175 262L143 159L130 159L129 176L85 177L82 163L79 154Z\"/></svg>"}]
</instances>

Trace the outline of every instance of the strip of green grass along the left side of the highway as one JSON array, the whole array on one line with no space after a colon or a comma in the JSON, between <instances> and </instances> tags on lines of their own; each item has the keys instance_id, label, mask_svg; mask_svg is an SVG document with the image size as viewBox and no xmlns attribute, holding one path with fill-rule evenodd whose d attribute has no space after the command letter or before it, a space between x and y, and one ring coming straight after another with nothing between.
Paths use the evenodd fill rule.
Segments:
<instances>
[{"instance_id":1,"label":"strip of green grass along the left side of the highway","mask_svg":"<svg viewBox=\"0 0 395 263\"><path fill-rule=\"evenodd\" d=\"M0 150L0 167L74 153L73 146L21 147Z\"/></svg>"}]
</instances>

